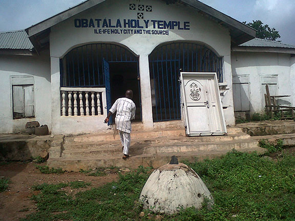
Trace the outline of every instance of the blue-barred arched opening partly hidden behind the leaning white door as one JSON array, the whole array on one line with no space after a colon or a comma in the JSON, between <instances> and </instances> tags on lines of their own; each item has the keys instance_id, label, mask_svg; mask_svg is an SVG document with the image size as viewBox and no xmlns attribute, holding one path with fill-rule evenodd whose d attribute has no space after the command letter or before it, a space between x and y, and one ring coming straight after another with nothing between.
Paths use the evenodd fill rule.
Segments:
<instances>
[{"instance_id":1,"label":"blue-barred arched opening partly hidden behind the leaning white door","mask_svg":"<svg viewBox=\"0 0 295 221\"><path fill-rule=\"evenodd\" d=\"M149 56L154 122L180 120L179 74L216 72L223 81L222 57L192 42L164 43Z\"/></svg>"}]
</instances>

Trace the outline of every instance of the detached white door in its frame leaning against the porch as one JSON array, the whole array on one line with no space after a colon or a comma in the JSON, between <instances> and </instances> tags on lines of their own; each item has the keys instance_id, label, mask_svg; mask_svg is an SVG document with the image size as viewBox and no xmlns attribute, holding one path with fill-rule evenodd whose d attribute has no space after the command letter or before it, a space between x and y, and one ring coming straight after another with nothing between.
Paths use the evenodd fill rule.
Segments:
<instances>
[{"instance_id":1,"label":"detached white door in its frame leaning against the porch","mask_svg":"<svg viewBox=\"0 0 295 221\"><path fill-rule=\"evenodd\" d=\"M224 135L226 126L216 73L180 74L186 134Z\"/></svg>"}]
</instances>

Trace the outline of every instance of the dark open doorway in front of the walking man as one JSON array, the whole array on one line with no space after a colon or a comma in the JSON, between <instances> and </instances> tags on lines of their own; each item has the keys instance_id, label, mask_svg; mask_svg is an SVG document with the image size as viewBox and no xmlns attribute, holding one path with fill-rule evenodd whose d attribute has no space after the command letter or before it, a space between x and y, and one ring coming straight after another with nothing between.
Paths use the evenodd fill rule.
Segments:
<instances>
[{"instance_id":1,"label":"dark open doorway in front of the walking man","mask_svg":"<svg viewBox=\"0 0 295 221\"><path fill-rule=\"evenodd\" d=\"M124 97L127 90L133 91L136 105L134 121L141 121L141 103L138 62L110 62L110 86L112 104Z\"/></svg>"}]
</instances>

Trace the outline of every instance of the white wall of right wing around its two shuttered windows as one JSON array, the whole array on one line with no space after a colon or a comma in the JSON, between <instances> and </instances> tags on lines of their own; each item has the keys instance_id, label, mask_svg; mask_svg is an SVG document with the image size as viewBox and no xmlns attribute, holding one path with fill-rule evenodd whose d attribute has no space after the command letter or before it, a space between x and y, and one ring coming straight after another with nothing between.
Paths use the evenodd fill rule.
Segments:
<instances>
[{"instance_id":1,"label":"white wall of right wing around its two shuttered windows","mask_svg":"<svg viewBox=\"0 0 295 221\"><path fill-rule=\"evenodd\" d=\"M293 86L290 83L290 55L279 53L232 52L231 67L233 76L249 75L250 113L263 113L263 93L261 77L277 75L278 95L291 95ZM292 98L282 100L294 104Z\"/></svg>"}]
</instances>

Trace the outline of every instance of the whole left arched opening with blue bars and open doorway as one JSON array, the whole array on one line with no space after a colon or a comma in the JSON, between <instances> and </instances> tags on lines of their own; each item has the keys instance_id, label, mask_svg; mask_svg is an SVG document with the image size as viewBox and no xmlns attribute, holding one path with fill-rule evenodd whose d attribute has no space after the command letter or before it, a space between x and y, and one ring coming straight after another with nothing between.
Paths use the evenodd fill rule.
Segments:
<instances>
[{"instance_id":1,"label":"whole left arched opening with blue bars and open doorway","mask_svg":"<svg viewBox=\"0 0 295 221\"><path fill-rule=\"evenodd\" d=\"M133 90L135 121L141 121L138 56L112 43L91 43L60 59L61 87L106 87L108 109L125 91ZM101 111L106 108L101 107ZM79 115L79 113L78 113Z\"/></svg>"}]
</instances>

